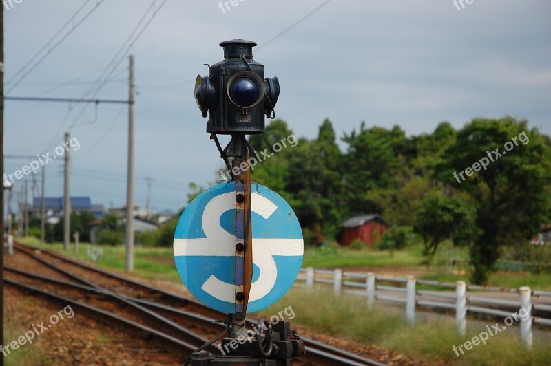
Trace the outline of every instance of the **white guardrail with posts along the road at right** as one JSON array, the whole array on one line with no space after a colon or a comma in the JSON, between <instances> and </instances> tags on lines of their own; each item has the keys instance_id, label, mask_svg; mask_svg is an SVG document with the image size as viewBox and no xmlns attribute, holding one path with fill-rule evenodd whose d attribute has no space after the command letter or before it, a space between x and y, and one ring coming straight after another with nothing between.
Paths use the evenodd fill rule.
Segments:
<instances>
[{"instance_id":1,"label":"white guardrail with posts along the road at right","mask_svg":"<svg viewBox=\"0 0 551 366\"><path fill-rule=\"evenodd\" d=\"M415 323L416 305L427 308L455 310L457 331L462 335L466 331L467 312L477 312L507 318L508 316L514 316L515 312L524 309L528 313L528 316L525 315L526 320L519 319L519 322L522 341L528 348L532 347L532 323L551 326L550 318L532 316L533 310L539 310L540 313L547 312L548 315L551 313L551 291L532 291L529 287L521 287L518 290L514 290L490 286L466 285L464 281L443 283L415 279L413 276L408 276L407 278L375 276L373 273L342 272L340 269L315 270L311 267L302 268L297 281L306 281L306 288L313 288L314 283L330 283L333 285L335 296L338 297L344 292L346 294L366 297L369 308L373 306L375 300L404 303L406 305L406 319L410 324ZM446 290L417 290L417 284L444 287L450 290L447 292ZM488 294L484 293L479 293L479 296L474 296L474 294L468 295L467 290L471 292L486 291L519 294L519 297L518 300L495 299L487 297ZM381 292L391 292L396 295ZM486 297L484 297L485 295ZM532 303L532 297L539 298L539 301ZM486 307L488 305L493 305L500 309L488 308ZM511 309L512 311L502 310L503 308Z\"/></svg>"}]
</instances>

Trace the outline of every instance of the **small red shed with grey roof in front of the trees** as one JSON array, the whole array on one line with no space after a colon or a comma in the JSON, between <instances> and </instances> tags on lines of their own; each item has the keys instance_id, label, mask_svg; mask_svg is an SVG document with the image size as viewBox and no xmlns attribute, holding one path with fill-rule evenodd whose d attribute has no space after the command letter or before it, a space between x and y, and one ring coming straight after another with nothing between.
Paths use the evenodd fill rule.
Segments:
<instances>
[{"instance_id":1,"label":"small red shed with grey roof in front of the trees","mask_svg":"<svg viewBox=\"0 0 551 366\"><path fill-rule=\"evenodd\" d=\"M355 239L371 245L386 231L386 223L380 215L361 215L347 219L341 225L337 241L342 246L350 245Z\"/></svg>"}]
</instances>

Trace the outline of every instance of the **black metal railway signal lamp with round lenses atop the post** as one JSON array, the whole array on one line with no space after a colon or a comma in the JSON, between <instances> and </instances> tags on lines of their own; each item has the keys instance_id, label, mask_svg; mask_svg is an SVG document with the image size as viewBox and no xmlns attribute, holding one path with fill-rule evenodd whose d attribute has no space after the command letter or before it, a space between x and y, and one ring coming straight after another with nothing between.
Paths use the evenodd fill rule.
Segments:
<instances>
[{"instance_id":1,"label":"black metal railway signal lamp with round lenses atop the post","mask_svg":"<svg viewBox=\"0 0 551 366\"><path fill-rule=\"evenodd\" d=\"M264 133L264 116L275 118L280 84L264 78L264 65L253 60L255 42L233 39L220 43L224 60L209 66L209 76L197 76L195 100L208 133Z\"/></svg>"}]
</instances>

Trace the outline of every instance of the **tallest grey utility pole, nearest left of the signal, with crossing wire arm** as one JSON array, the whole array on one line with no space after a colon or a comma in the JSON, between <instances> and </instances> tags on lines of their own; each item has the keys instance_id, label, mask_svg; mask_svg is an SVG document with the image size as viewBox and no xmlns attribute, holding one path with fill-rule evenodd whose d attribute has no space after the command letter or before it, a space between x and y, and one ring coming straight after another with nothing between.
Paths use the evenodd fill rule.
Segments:
<instances>
[{"instance_id":1,"label":"tallest grey utility pole, nearest left of the signal, with crossing wire arm","mask_svg":"<svg viewBox=\"0 0 551 366\"><path fill-rule=\"evenodd\" d=\"M125 270L134 270L134 56L129 56L128 93L128 173L126 195L126 262Z\"/></svg>"}]
</instances>

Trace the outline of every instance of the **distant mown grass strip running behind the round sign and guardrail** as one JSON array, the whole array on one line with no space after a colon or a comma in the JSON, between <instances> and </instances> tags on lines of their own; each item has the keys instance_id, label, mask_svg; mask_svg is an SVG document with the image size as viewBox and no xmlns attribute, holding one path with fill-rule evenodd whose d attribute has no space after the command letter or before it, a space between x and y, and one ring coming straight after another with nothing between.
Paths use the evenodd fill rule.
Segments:
<instances>
[{"instance_id":1,"label":"distant mown grass strip running behind the round sign and guardrail","mask_svg":"<svg viewBox=\"0 0 551 366\"><path fill-rule=\"evenodd\" d=\"M63 244L45 244L41 246L39 240L30 237L18 239L23 244L29 244L36 248L55 250L70 257L91 261L87 255L88 248L101 248L103 255L96 262L98 266L123 272L125 269L125 248L124 246L94 246L91 244L79 244L79 253L74 252L71 246L68 252L63 250ZM134 274L145 279L156 279L160 281L171 281L180 283L180 277L174 266L174 254L171 247L151 248L136 246L134 249ZM353 250L351 248L336 248L335 246L322 246L319 248L306 248L304 250L304 261L302 267L314 268L350 268L350 267L374 267L391 268L401 267L411 270L425 270L424 275L419 279L430 279L434 281L455 283L465 281L470 283L468 275L454 275L441 272L437 268L424 266L426 257L423 255L423 248L420 245L409 246L404 250L391 252L388 250L375 250L364 248ZM530 272L504 272L498 271L490 275L488 286L519 288L530 286L532 290L551 290L551 275L546 273L532 274ZM425 286L419 287L424 289ZM434 286L430 290L437 290ZM448 288L441 288L448 290Z\"/></svg>"}]
</instances>

